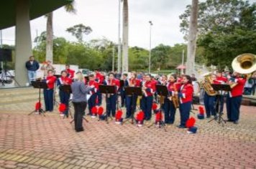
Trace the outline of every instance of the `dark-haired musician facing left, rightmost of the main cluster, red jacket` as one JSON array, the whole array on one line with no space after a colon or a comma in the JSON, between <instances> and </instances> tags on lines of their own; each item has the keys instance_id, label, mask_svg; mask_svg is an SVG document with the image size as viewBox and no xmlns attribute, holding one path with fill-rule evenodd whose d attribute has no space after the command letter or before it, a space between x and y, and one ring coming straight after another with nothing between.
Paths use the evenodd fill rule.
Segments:
<instances>
[{"instance_id":1,"label":"dark-haired musician facing left, rightmost of the main cluster, red jacket","mask_svg":"<svg viewBox=\"0 0 256 169\"><path fill-rule=\"evenodd\" d=\"M177 127L186 128L186 121L189 118L193 99L193 85L191 77L188 75L184 75L181 82L179 92L175 92L180 98L180 125Z\"/></svg>"}]
</instances>

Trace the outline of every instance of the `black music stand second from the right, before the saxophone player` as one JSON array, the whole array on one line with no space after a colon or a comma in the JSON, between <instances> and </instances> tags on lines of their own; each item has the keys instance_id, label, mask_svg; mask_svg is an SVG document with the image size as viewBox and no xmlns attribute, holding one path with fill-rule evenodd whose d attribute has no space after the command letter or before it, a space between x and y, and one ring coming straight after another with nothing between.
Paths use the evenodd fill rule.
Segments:
<instances>
[{"instance_id":1,"label":"black music stand second from the right, before the saxophone player","mask_svg":"<svg viewBox=\"0 0 256 169\"><path fill-rule=\"evenodd\" d=\"M163 102L164 102L164 98L168 97L168 94L169 94L168 88L165 85L157 84L156 85L156 90L157 90L158 95L160 95L160 113L163 113L162 105L163 105ZM153 122L148 127L151 127L154 124L155 124L155 122ZM166 128L165 128L165 122L163 120L160 120L159 127L163 127L165 132L167 131Z\"/></svg>"}]
</instances>

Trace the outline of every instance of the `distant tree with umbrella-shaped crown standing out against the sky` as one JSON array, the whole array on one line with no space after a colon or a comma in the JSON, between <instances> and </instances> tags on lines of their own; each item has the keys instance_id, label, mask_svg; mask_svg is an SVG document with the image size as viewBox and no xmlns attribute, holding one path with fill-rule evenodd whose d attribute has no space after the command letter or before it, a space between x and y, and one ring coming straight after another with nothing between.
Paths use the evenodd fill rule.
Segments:
<instances>
[{"instance_id":1,"label":"distant tree with umbrella-shaped crown standing out against the sky","mask_svg":"<svg viewBox=\"0 0 256 169\"><path fill-rule=\"evenodd\" d=\"M75 26L66 29L66 32L71 33L78 39L78 42L83 42L83 34L90 34L93 30L90 26L84 26L83 24L76 24Z\"/></svg>"}]
</instances>

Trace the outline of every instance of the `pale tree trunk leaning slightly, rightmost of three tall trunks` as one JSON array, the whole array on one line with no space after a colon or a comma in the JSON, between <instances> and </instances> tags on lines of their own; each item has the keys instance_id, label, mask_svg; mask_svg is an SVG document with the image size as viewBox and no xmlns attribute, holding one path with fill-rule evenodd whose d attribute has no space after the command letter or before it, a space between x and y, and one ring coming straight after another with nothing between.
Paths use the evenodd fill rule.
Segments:
<instances>
[{"instance_id":1,"label":"pale tree trunk leaning slightly, rightmost of three tall trunks","mask_svg":"<svg viewBox=\"0 0 256 169\"><path fill-rule=\"evenodd\" d=\"M191 18L188 32L188 54L186 62L186 74L194 73L196 55L196 35L198 19L198 0L192 0Z\"/></svg>"}]
</instances>

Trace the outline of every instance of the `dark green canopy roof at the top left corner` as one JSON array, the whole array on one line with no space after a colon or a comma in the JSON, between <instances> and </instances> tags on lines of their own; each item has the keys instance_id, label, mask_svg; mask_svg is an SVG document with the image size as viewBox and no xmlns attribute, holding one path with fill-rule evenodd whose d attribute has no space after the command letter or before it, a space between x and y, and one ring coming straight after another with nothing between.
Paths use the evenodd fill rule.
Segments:
<instances>
[{"instance_id":1,"label":"dark green canopy roof at the top left corner","mask_svg":"<svg viewBox=\"0 0 256 169\"><path fill-rule=\"evenodd\" d=\"M16 25L16 1L1 1L0 6L0 29L6 29ZM29 0L30 20L36 19L55 9L70 3L73 0Z\"/></svg>"}]
</instances>

